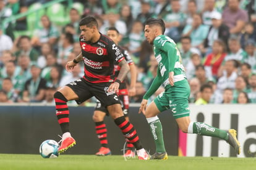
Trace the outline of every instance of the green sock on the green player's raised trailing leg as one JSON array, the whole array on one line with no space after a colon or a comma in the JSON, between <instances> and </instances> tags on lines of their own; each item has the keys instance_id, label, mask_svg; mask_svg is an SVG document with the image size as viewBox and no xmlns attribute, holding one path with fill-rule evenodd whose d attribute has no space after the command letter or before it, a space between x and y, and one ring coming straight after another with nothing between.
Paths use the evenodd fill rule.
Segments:
<instances>
[{"instance_id":1,"label":"green sock on the green player's raised trailing leg","mask_svg":"<svg viewBox=\"0 0 256 170\"><path fill-rule=\"evenodd\" d=\"M218 137L220 139L228 140L228 132L200 122L191 122L189 124L188 133L200 134L201 136Z\"/></svg>"}]
</instances>

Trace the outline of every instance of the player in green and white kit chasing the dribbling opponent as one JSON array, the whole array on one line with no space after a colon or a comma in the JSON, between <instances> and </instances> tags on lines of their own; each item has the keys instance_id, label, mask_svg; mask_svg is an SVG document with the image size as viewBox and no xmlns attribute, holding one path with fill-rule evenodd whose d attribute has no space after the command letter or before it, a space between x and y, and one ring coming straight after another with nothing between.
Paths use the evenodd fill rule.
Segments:
<instances>
[{"instance_id":1,"label":"player in green and white kit chasing the dribbling opponent","mask_svg":"<svg viewBox=\"0 0 256 170\"><path fill-rule=\"evenodd\" d=\"M150 88L143 96L139 113L143 113L150 125L155 140L156 153L151 159L166 160L168 155L164 148L163 131L158 114L171 109L179 128L189 134L218 137L226 140L239 154L241 147L236 139L236 130L224 131L205 123L191 122L189 118L190 87L182 65L181 55L173 39L164 36L165 25L163 20L149 18L145 22L145 38L153 44L155 57L158 62L158 72ZM147 106L148 98L158 87L164 85L165 91L158 95ZM147 107L147 109L146 109Z\"/></svg>"}]
</instances>

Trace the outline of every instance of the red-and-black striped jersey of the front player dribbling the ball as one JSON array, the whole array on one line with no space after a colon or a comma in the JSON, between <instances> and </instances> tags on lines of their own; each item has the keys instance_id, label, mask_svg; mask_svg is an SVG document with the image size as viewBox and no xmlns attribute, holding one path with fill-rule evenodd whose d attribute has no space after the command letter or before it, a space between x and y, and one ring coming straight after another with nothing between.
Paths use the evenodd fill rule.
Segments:
<instances>
[{"instance_id":1,"label":"red-and-black striped jersey of the front player dribbling the ball","mask_svg":"<svg viewBox=\"0 0 256 170\"><path fill-rule=\"evenodd\" d=\"M88 43L80 36L82 48L84 76L90 83L113 82L115 79L114 65L124 60L121 49L107 36L101 34L95 43Z\"/></svg>"}]
</instances>

